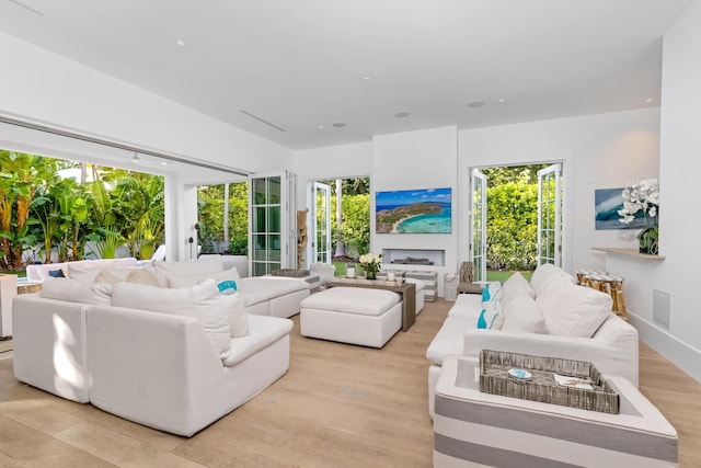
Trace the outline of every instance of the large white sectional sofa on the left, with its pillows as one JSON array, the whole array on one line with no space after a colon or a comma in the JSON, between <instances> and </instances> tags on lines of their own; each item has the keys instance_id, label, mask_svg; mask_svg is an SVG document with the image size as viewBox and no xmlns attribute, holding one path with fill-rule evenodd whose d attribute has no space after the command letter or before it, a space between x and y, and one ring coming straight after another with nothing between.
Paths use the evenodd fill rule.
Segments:
<instances>
[{"instance_id":1,"label":"large white sectional sofa on the left, with its pillows","mask_svg":"<svg viewBox=\"0 0 701 468\"><path fill-rule=\"evenodd\" d=\"M14 298L14 375L191 436L287 372L292 322L266 316L297 313L309 295L287 278L237 278L240 292L222 294L232 277L217 259L49 277Z\"/></svg>"}]
</instances>

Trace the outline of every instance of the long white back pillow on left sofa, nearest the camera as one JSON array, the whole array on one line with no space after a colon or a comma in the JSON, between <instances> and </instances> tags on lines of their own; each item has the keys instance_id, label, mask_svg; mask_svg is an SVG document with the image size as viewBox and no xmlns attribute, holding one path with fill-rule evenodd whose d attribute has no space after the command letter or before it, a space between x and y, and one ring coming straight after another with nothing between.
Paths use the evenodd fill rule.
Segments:
<instances>
[{"instance_id":1,"label":"long white back pillow on left sofa, nearest the camera","mask_svg":"<svg viewBox=\"0 0 701 468\"><path fill-rule=\"evenodd\" d=\"M113 288L112 305L194 317L202 322L207 339L223 359L231 347L231 328L221 297L214 281L176 289L117 283Z\"/></svg>"}]
</instances>

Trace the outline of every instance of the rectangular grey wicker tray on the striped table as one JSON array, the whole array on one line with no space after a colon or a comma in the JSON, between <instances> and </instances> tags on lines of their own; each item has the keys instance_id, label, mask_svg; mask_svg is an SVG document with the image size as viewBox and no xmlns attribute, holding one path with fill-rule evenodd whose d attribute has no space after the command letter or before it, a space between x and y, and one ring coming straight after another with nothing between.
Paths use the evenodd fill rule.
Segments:
<instances>
[{"instance_id":1,"label":"rectangular grey wicker tray on the striped table","mask_svg":"<svg viewBox=\"0 0 701 468\"><path fill-rule=\"evenodd\" d=\"M512 368L526 369L532 374L532 378L516 379L508 374ZM594 389L559 386L553 373L589 378L594 383ZM602 378L601 373L585 361L482 350L480 391L589 411L619 413L619 395Z\"/></svg>"}]
</instances>

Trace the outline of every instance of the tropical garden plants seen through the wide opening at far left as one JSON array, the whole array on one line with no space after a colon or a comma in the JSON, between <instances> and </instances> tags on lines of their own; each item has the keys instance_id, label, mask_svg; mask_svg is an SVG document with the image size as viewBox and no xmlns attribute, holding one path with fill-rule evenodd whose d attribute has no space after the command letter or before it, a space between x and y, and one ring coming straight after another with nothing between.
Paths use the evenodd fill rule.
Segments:
<instances>
[{"instance_id":1,"label":"tropical garden plants seen through the wide opening at far left","mask_svg":"<svg viewBox=\"0 0 701 468\"><path fill-rule=\"evenodd\" d=\"M61 175L68 169L80 178ZM163 241L163 183L159 175L0 150L0 267L110 259L122 246L149 259Z\"/></svg>"}]
</instances>

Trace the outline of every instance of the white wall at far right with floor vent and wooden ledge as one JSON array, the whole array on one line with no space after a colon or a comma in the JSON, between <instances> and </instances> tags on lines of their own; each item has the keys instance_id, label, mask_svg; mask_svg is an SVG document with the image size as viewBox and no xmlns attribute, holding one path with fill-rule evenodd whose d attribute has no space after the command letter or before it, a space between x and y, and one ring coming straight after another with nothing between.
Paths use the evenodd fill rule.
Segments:
<instances>
[{"instance_id":1,"label":"white wall at far right with floor vent and wooden ledge","mask_svg":"<svg viewBox=\"0 0 701 468\"><path fill-rule=\"evenodd\" d=\"M632 279L627 297L641 338L701 381L701 265L696 192L701 174L701 1L667 31L663 49L659 253L662 261L610 255L610 269ZM653 320L653 288L670 295L669 329ZM662 310L662 309L657 309Z\"/></svg>"}]
</instances>

